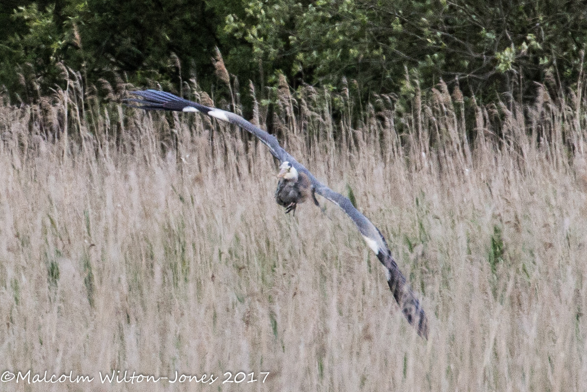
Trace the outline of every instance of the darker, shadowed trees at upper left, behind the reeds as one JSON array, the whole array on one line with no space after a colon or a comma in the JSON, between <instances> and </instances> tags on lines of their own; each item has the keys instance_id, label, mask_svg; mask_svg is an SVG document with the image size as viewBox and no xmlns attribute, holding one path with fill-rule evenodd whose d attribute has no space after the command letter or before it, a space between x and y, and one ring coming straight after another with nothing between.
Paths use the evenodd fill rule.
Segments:
<instances>
[{"instance_id":1,"label":"darker, shadowed trees at upper left, behind the reeds","mask_svg":"<svg viewBox=\"0 0 587 392\"><path fill-rule=\"evenodd\" d=\"M214 74L210 57L220 20L204 2L30 3L12 10L14 28L5 29L7 38L0 42L0 86L13 99L30 102L49 94L63 84L65 67L82 71L85 83L117 82L128 73L133 83L157 81L174 90L191 76L190 69ZM181 64L188 65L183 75Z\"/></svg>"}]
</instances>

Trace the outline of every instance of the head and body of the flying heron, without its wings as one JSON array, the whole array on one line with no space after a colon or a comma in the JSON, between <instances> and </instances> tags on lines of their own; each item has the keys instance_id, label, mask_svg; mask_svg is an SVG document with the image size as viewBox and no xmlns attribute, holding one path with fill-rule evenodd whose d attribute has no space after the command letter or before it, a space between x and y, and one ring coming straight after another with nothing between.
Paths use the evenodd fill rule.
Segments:
<instances>
[{"instance_id":1,"label":"head and body of the flying heron, without its wings","mask_svg":"<svg viewBox=\"0 0 587 392\"><path fill-rule=\"evenodd\" d=\"M280 206L285 207L285 213L293 211L295 215L296 206L298 203L303 203L312 197L312 200L316 206L320 206L318 200L316 200L315 189L312 185L312 181L308 178L306 173L298 173L296 168L291 165L288 161L279 166L279 182L277 183L277 189L275 189L275 201Z\"/></svg>"}]
</instances>

